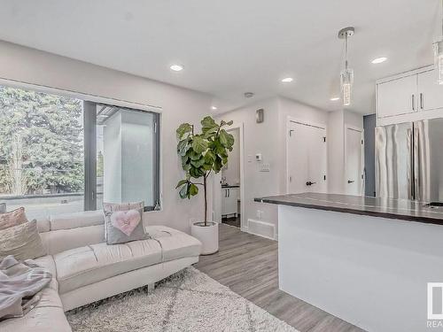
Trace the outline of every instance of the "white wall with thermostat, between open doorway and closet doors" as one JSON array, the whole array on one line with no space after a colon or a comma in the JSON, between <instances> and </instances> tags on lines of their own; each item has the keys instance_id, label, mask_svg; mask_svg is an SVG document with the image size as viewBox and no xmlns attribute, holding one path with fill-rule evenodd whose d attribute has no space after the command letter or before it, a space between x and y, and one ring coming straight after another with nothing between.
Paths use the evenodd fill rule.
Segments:
<instances>
[{"instance_id":1,"label":"white wall with thermostat, between open doorway and closet doors","mask_svg":"<svg viewBox=\"0 0 443 332\"><path fill-rule=\"evenodd\" d=\"M264 109L264 122L256 123L255 111ZM222 114L220 119L244 124L245 135L245 220L260 220L276 226L276 205L253 202L255 197L286 192L286 123L288 117L327 124L328 113L291 99L274 97ZM260 162L269 164L269 172L260 172ZM250 161L251 160L251 161ZM260 214L260 217L258 216Z\"/></svg>"}]
</instances>

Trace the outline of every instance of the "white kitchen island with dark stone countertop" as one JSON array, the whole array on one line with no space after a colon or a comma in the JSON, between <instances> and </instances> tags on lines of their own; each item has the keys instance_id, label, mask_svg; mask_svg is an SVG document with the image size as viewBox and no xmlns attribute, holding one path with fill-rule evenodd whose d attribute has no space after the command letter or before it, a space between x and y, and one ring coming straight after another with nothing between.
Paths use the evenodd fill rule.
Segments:
<instances>
[{"instance_id":1,"label":"white kitchen island with dark stone countertop","mask_svg":"<svg viewBox=\"0 0 443 332\"><path fill-rule=\"evenodd\" d=\"M369 331L429 330L427 282L443 282L441 206L316 193L255 201L278 205L281 290Z\"/></svg>"}]
</instances>

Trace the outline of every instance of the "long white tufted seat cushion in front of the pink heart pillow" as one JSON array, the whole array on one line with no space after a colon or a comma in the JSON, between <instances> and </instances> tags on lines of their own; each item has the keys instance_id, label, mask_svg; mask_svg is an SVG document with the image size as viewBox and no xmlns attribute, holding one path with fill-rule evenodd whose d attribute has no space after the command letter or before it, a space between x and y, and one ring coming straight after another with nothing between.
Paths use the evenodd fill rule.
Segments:
<instances>
[{"instance_id":1,"label":"long white tufted seat cushion in front of the pink heart pillow","mask_svg":"<svg viewBox=\"0 0 443 332\"><path fill-rule=\"evenodd\" d=\"M60 294L114 275L161 262L161 247L149 239L124 244L91 244L54 255Z\"/></svg>"}]
</instances>

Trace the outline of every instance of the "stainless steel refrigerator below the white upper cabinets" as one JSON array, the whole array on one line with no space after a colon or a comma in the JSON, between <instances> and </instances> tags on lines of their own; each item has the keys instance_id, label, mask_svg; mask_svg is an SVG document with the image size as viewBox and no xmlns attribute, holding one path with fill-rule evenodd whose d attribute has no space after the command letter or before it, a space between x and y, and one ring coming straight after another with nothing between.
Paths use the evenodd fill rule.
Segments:
<instances>
[{"instance_id":1,"label":"stainless steel refrigerator below the white upper cabinets","mask_svg":"<svg viewBox=\"0 0 443 332\"><path fill-rule=\"evenodd\" d=\"M443 202L443 119L376 127L376 195Z\"/></svg>"}]
</instances>

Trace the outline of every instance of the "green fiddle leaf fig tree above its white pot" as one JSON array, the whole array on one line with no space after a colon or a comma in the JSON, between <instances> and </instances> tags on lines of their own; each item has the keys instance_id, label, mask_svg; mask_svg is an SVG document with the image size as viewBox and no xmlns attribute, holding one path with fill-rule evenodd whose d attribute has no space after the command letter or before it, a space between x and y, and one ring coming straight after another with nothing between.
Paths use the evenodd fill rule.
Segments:
<instances>
[{"instance_id":1,"label":"green fiddle leaf fig tree above its white pot","mask_svg":"<svg viewBox=\"0 0 443 332\"><path fill-rule=\"evenodd\" d=\"M186 176L178 181L180 197L188 198L198 195L198 187L203 187L205 196L205 226L207 226L207 178L210 174L219 173L221 167L228 163L228 151L232 151L234 136L225 127L232 121L215 122L210 116L201 120L201 133L196 133L193 125L183 123L177 128L177 153L182 159Z\"/></svg>"}]
</instances>

